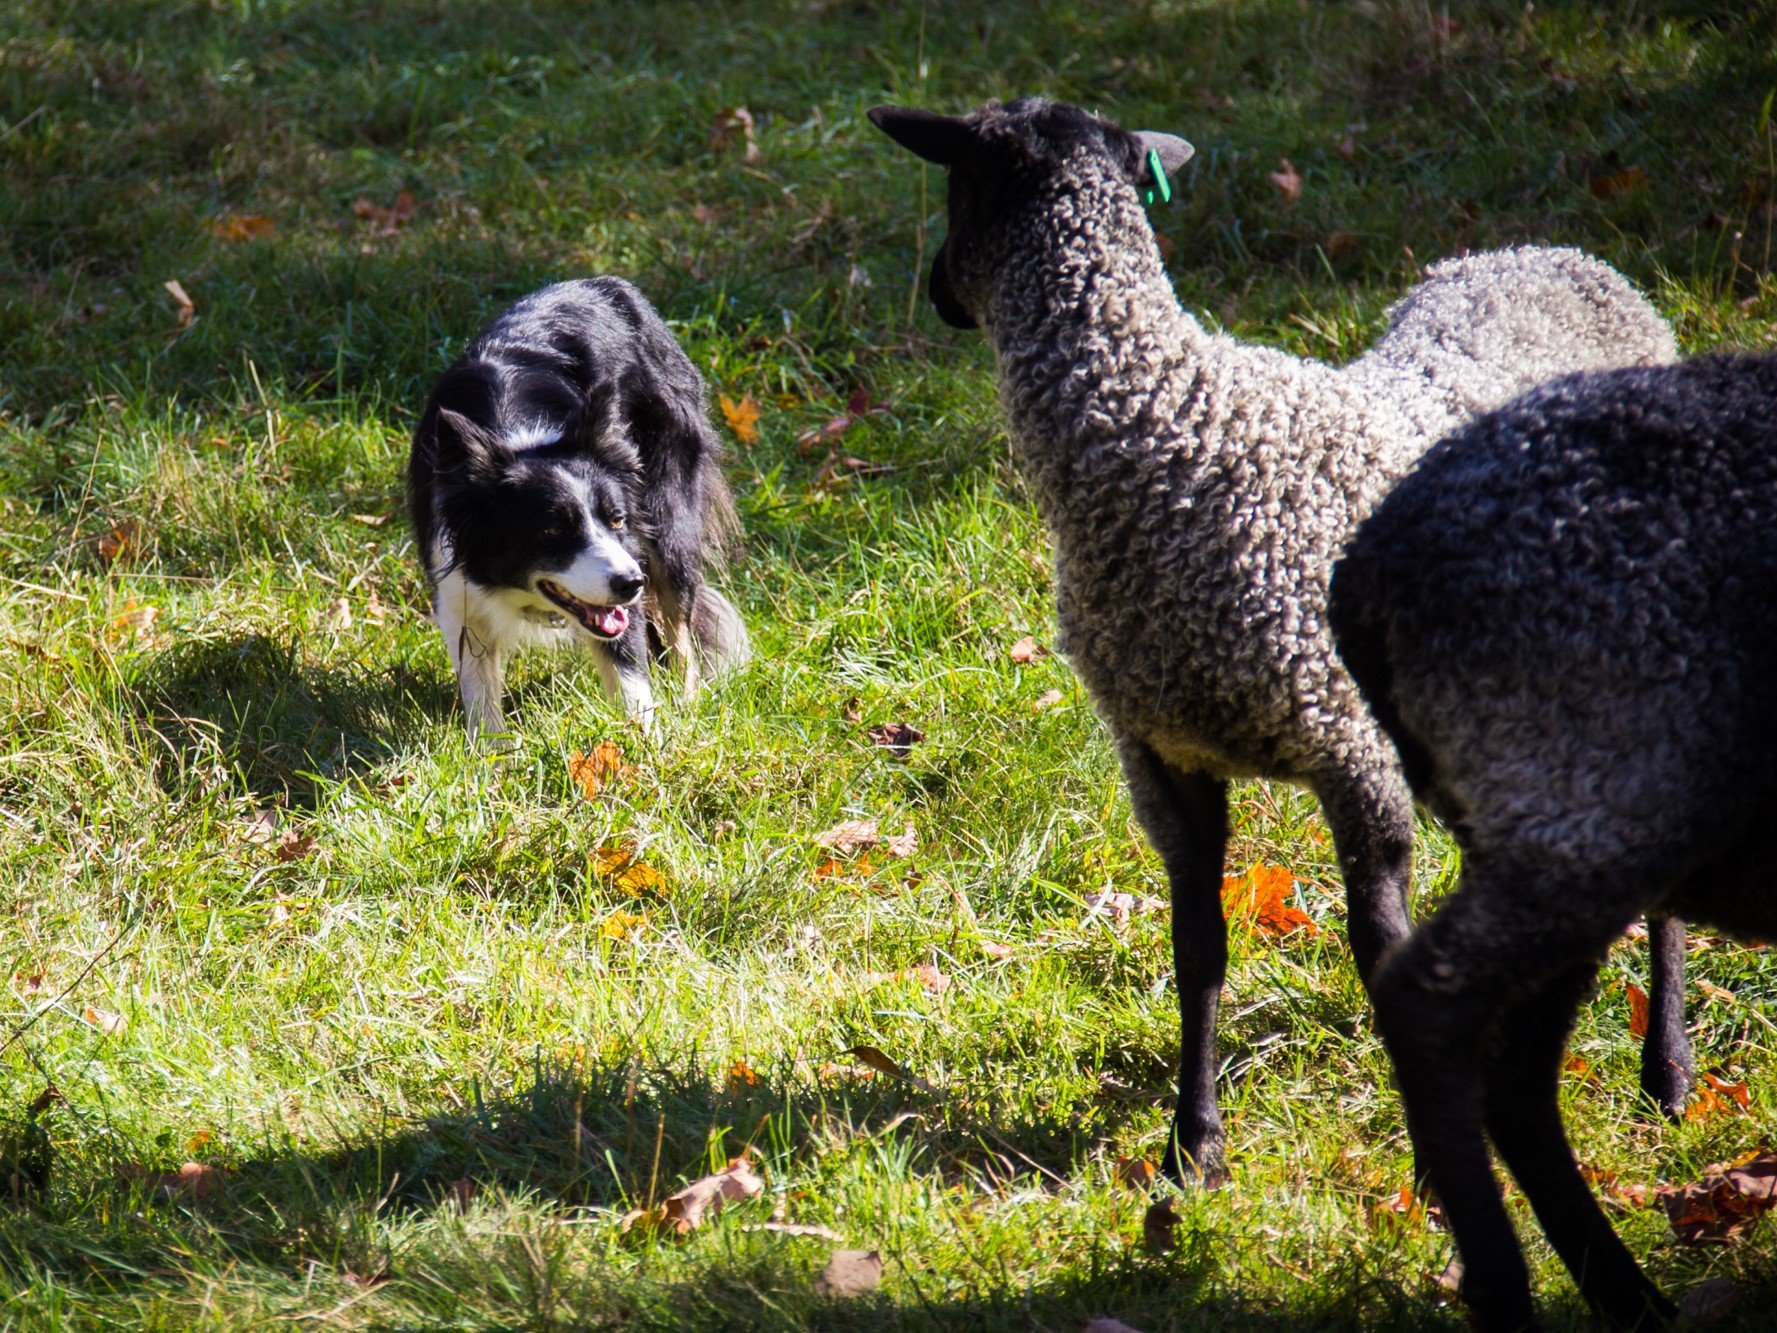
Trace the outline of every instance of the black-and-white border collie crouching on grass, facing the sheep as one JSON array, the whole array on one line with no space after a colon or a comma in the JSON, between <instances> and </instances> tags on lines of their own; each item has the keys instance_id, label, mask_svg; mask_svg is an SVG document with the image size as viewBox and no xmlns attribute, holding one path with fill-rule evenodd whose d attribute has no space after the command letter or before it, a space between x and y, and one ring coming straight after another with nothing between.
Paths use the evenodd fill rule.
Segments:
<instances>
[{"instance_id":1,"label":"black-and-white border collie crouching on grass, facing the sheep","mask_svg":"<svg viewBox=\"0 0 1777 1333\"><path fill-rule=\"evenodd\" d=\"M649 661L695 691L746 659L704 560L737 533L704 379L629 283L556 283L476 334L426 400L407 466L432 610L471 736L505 730L506 659L583 647L652 723Z\"/></svg>"}]
</instances>

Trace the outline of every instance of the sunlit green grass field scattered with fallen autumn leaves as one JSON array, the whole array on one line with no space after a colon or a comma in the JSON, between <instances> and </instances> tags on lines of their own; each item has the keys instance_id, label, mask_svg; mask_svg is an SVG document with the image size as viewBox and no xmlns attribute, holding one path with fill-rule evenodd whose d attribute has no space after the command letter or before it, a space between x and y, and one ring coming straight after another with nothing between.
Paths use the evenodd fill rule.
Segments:
<instances>
[{"instance_id":1,"label":"sunlit green grass field scattered with fallen autumn leaves","mask_svg":"<svg viewBox=\"0 0 1777 1333\"><path fill-rule=\"evenodd\" d=\"M1052 636L1043 535L981 339L917 290L942 178L864 110L1047 92L1183 133L1182 300L1295 352L1516 240L1606 256L1686 350L1768 347L1777 9L1605 9L0 7L0 1328L1461 1328L1448 1237L1388 1207L1400 1107L1283 786L1239 793L1230 873L1285 867L1324 930L1237 926L1233 1182L1144 1241L1167 922L1088 896L1164 882L1066 666L1015 661ZM723 576L757 659L652 739L522 659L517 745L478 754L407 435L483 318L595 272L761 409ZM798 439L858 389L871 466L823 473ZM588 794L604 741L627 771ZM832 857L844 819L917 853ZM1427 823L1422 903L1454 867ZM1619 1196L1777 1137L1770 954L1695 942L1701 1065L1749 1097L1676 1127L1633 1091L1646 969L1612 956L1566 1088ZM624 1232L748 1146L761 1198ZM1619 1226L1766 1326L1772 1223ZM817 1294L835 1246L881 1285Z\"/></svg>"}]
</instances>

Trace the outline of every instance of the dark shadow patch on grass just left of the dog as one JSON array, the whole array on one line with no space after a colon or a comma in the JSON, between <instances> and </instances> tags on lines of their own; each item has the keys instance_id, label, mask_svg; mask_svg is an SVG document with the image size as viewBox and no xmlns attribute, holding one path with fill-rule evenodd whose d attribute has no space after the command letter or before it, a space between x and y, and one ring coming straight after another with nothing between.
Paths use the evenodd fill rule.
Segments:
<instances>
[{"instance_id":1,"label":"dark shadow patch on grass just left of the dog","mask_svg":"<svg viewBox=\"0 0 1777 1333\"><path fill-rule=\"evenodd\" d=\"M450 713L446 675L320 665L295 640L243 635L181 643L137 668L142 722L167 746L163 780L217 761L249 791L311 803L320 784L370 773Z\"/></svg>"}]
</instances>

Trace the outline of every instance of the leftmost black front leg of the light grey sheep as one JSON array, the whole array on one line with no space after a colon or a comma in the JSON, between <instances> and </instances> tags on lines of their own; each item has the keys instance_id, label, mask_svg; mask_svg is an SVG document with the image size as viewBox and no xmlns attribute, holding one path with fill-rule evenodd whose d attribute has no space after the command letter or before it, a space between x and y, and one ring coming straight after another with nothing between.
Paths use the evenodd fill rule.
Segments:
<instances>
[{"instance_id":1,"label":"leftmost black front leg of the light grey sheep","mask_svg":"<svg viewBox=\"0 0 1777 1333\"><path fill-rule=\"evenodd\" d=\"M1136 818L1160 853L1173 890L1178 1111L1164 1166L1180 1184L1214 1182L1226 1168L1215 1107L1215 1006L1228 972L1221 906L1228 784L1208 773L1180 771L1134 738L1118 738L1118 755Z\"/></svg>"}]
</instances>

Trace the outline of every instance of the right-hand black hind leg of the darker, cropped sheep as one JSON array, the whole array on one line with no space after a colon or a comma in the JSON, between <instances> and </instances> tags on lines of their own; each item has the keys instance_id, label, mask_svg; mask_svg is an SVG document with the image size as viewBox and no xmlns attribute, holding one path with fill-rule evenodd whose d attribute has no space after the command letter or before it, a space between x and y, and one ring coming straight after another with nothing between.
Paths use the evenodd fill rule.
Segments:
<instances>
[{"instance_id":1,"label":"right-hand black hind leg of the darker, cropped sheep","mask_svg":"<svg viewBox=\"0 0 1777 1333\"><path fill-rule=\"evenodd\" d=\"M1592 1308L1612 1328L1656 1328L1677 1312L1599 1210L1560 1123L1562 1052L1594 976L1596 962L1569 967L1500 1020L1484 1075L1487 1134Z\"/></svg>"}]
</instances>

